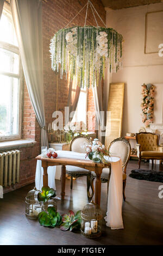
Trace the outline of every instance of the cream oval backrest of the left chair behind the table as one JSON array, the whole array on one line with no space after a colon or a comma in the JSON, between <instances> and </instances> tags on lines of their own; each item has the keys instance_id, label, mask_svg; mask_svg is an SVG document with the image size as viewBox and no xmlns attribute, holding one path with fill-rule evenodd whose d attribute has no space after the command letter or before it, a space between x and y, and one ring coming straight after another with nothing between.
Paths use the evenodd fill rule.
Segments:
<instances>
[{"instance_id":1,"label":"cream oval backrest of the left chair behind the table","mask_svg":"<svg viewBox=\"0 0 163 256\"><path fill-rule=\"evenodd\" d=\"M86 145L92 144L92 139L86 135L74 137L70 143L70 151L86 153Z\"/></svg>"}]
</instances>

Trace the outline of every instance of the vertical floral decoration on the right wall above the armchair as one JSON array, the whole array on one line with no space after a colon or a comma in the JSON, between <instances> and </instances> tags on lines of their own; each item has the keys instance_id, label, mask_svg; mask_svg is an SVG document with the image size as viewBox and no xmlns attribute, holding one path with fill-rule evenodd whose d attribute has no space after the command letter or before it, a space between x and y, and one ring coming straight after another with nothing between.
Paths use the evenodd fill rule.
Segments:
<instances>
[{"instance_id":1,"label":"vertical floral decoration on the right wall above the armchair","mask_svg":"<svg viewBox=\"0 0 163 256\"><path fill-rule=\"evenodd\" d=\"M154 108L154 86L151 83L142 85L142 122L145 126L149 126L153 122Z\"/></svg>"}]
</instances>

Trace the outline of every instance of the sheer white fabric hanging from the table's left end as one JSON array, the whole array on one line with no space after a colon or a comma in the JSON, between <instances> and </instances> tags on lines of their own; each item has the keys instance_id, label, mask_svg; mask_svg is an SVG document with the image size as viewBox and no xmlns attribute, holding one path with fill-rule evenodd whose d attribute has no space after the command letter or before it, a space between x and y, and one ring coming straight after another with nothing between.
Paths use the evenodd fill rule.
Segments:
<instances>
[{"instance_id":1,"label":"sheer white fabric hanging from the table's left end","mask_svg":"<svg viewBox=\"0 0 163 256\"><path fill-rule=\"evenodd\" d=\"M48 173L48 186L55 188L55 171L56 166L49 166L47 169ZM37 160L36 175L35 175L35 187L37 190L41 190L43 186L43 167L41 167L41 160Z\"/></svg>"}]
</instances>

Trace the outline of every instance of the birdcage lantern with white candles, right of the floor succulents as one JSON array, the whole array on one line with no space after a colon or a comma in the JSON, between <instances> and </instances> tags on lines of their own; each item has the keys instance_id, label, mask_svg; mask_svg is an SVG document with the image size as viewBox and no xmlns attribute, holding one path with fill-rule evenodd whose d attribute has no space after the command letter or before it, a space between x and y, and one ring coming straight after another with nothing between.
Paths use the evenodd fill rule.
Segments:
<instances>
[{"instance_id":1,"label":"birdcage lantern with white candles, right of the floor succulents","mask_svg":"<svg viewBox=\"0 0 163 256\"><path fill-rule=\"evenodd\" d=\"M81 233L88 238L101 236L102 210L98 204L86 204L81 213Z\"/></svg>"}]
</instances>

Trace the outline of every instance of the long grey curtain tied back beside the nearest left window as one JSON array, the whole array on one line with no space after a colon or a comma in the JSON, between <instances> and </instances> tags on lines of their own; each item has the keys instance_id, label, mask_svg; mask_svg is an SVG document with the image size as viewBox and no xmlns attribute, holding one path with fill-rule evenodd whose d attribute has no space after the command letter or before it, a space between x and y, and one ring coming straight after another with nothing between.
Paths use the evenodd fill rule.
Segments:
<instances>
[{"instance_id":1,"label":"long grey curtain tied back beside the nearest left window","mask_svg":"<svg viewBox=\"0 0 163 256\"><path fill-rule=\"evenodd\" d=\"M41 126L41 146L48 147L43 96L42 1L10 0L28 93Z\"/></svg>"}]
</instances>

